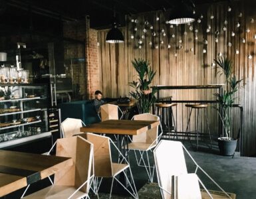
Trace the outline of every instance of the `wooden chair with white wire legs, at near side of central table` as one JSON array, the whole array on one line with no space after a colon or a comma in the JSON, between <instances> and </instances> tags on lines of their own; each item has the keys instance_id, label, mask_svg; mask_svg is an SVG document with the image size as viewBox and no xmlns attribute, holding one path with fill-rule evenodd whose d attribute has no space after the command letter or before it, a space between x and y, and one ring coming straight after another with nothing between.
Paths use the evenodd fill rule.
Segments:
<instances>
[{"instance_id":1,"label":"wooden chair with white wire legs, at near side of central table","mask_svg":"<svg viewBox=\"0 0 256 199\"><path fill-rule=\"evenodd\" d=\"M104 137L102 135L96 135L92 133L84 133L80 135L86 138L90 143L94 145L94 193L98 194L98 190L100 188L100 184L102 182L102 178L112 178L112 184L110 188L110 198L112 194L112 188L114 180L116 180L129 194L134 198L138 198L138 194L136 191L136 187L134 184L134 179L132 176L132 171L130 170L130 165L119 149L114 145L114 142L109 137ZM118 151L119 155L122 156L125 164L113 163L110 151L110 143L114 146L114 148ZM128 178L128 174L126 172L130 172L130 180ZM130 185L130 190L122 184L116 176L121 172L124 173L124 176Z\"/></svg>"}]
</instances>

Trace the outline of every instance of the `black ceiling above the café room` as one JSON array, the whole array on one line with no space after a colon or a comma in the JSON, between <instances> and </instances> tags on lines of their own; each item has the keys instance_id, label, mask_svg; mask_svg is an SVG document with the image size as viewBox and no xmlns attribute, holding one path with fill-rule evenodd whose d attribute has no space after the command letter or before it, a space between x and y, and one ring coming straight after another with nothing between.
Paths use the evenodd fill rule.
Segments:
<instances>
[{"instance_id":1,"label":"black ceiling above the caf\u00e9 room","mask_svg":"<svg viewBox=\"0 0 256 199\"><path fill-rule=\"evenodd\" d=\"M124 25L124 16L160 9L170 9L181 0L0 0L0 14L15 19L28 20L33 13L33 21L36 15L59 21L74 21L90 16L90 27L110 27L112 24L113 10ZM190 0L184 0L190 1ZM194 0L195 5L212 3L219 0ZM31 12L30 12L31 11ZM13 22L11 17L2 17L8 22ZM10 19L9 19L10 18ZM39 17L40 18L40 17ZM8 21L9 19L9 21ZM0 21L0 23L1 23ZM27 22L29 23L29 22ZM35 22L34 22L35 24Z\"/></svg>"}]
</instances>

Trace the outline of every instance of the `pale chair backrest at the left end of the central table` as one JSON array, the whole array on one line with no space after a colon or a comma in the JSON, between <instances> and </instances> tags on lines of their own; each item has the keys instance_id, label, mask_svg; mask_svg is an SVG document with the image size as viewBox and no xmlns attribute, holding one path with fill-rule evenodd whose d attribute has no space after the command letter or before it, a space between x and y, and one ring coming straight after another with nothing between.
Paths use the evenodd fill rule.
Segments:
<instances>
[{"instance_id":1,"label":"pale chair backrest at the left end of the central table","mask_svg":"<svg viewBox=\"0 0 256 199\"><path fill-rule=\"evenodd\" d=\"M82 121L80 119L66 118L61 123L63 137L72 137L75 134L79 134L80 127L82 127Z\"/></svg>"}]
</instances>

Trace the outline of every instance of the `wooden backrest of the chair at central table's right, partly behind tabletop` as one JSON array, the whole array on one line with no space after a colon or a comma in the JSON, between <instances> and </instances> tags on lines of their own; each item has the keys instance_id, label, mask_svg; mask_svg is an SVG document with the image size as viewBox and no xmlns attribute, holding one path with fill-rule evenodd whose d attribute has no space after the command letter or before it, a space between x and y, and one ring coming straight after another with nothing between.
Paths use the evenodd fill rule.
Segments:
<instances>
[{"instance_id":1,"label":"wooden backrest of the chair at central table's right, partly behind tabletop","mask_svg":"<svg viewBox=\"0 0 256 199\"><path fill-rule=\"evenodd\" d=\"M139 115L134 115L134 120L147 120L147 121L158 121L160 120L158 116L152 115L150 113L142 113ZM140 142L140 143L148 143L152 144L154 141L157 144L158 142L158 126L149 129L144 133L140 133L139 135L132 136L133 142Z\"/></svg>"}]
</instances>

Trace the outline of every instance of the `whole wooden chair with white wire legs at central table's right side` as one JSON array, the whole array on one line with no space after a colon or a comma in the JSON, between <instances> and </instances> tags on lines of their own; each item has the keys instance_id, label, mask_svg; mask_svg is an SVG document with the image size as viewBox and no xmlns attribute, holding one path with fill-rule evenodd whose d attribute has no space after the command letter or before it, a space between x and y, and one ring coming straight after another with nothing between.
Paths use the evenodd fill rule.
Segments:
<instances>
[{"instance_id":1,"label":"whole wooden chair with white wire legs at central table's right side","mask_svg":"<svg viewBox=\"0 0 256 199\"><path fill-rule=\"evenodd\" d=\"M134 115L133 119L147 120L147 121L160 121L160 118L158 116L152 115L150 113L142 113L139 115ZM144 166L144 168L146 169L150 182L153 182L155 165L154 163L153 163L153 166L150 164L150 161L148 158L148 152L152 151L152 149L156 147L160 137L162 136L162 126L160 127L161 127L160 135L158 135L158 126L157 126L144 133L140 133L139 135L133 135L132 143L129 143L128 145L128 149L134 151L137 165ZM138 151L138 155L136 151Z\"/></svg>"}]
</instances>

